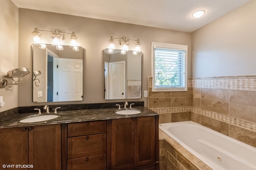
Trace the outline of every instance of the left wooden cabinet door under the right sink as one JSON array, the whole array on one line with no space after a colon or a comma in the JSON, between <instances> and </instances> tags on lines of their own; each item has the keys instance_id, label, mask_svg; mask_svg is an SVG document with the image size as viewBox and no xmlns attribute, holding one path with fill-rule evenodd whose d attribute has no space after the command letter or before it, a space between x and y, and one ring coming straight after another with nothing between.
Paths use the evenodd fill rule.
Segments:
<instances>
[{"instance_id":1,"label":"left wooden cabinet door under the right sink","mask_svg":"<svg viewBox=\"0 0 256 170\"><path fill-rule=\"evenodd\" d=\"M113 119L111 170L134 167L134 118Z\"/></svg>"}]
</instances>

